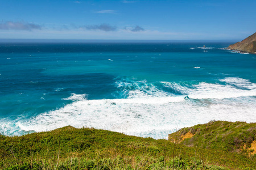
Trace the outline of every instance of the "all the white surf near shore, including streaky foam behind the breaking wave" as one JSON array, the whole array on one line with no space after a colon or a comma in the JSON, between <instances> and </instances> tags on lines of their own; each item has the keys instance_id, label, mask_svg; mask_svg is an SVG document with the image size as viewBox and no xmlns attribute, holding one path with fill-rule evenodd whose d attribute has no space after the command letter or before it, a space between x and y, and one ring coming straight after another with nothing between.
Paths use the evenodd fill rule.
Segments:
<instances>
[{"instance_id":1,"label":"all the white surf near shore, including streaky foam behind the breaking wave","mask_svg":"<svg viewBox=\"0 0 256 170\"><path fill-rule=\"evenodd\" d=\"M116 85L126 99L84 100L86 95L72 94L68 100L80 101L31 118L0 120L0 133L20 135L71 125L159 139L176 129L210 120L256 122L255 83L249 80L225 78L219 84L159 82L159 87L183 94L177 96L145 80L123 80Z\"/></svg>"}]
</instances>

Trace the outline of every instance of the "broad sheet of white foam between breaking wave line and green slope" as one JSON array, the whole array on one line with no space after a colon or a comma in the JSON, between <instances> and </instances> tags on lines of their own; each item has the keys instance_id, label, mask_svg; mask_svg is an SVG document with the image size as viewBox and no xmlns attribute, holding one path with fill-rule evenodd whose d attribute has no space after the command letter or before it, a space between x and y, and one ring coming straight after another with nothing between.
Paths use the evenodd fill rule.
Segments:
<instances>
[{"instance_id":1,"label":"broad sheet of white foam between breaking wave line and green slope","mask_svg":"<svg viewBox=\"0 0 256 170\"><path fill-rule=\"evenodd\" d=\"M68 125L76 128L84 126L141 137L167 138L177 128L204 124L210 120L255 122L255 98L251 98L254 105L240 100L240 103L229 100L216 103L208 101L205 105L195 104L190 100L175 103L137 99L84 100L26 121L19 120L15 122L15 126L18 126L19 131L47 131ZM9 129L10 125L14 124L5 122L3 128Z\"/></svg>"}]
</instances>

